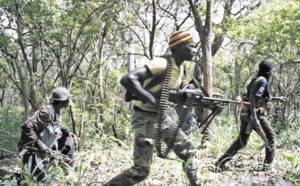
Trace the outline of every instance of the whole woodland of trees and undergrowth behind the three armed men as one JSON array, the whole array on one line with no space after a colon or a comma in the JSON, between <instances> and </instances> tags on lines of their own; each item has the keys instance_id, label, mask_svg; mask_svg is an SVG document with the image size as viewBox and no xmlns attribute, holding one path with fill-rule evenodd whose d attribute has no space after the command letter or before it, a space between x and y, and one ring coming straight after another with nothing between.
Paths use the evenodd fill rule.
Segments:
<instances>
[{"instance_id":1,"label":"whole woodland of trees and undergrowth behind the three armed men","mask_svg":"<svg viewBox=\"0 0 300 186\"><path fill-rule=\"evenodd\" d=\"M73 95L63 121L78 136L77 164L65 176L54 168L56 176L45 184L101 185L128 168L133 134L120 77L168 52L173 31L187 30L197 54L195 63L186 62L185 82L199 64L208 93L233 99L245 92L258 63L268 59L275 64L272 95L288 99L270 106L278 150L269 172L257 171L264 150L256 134L229 164L231 170L212 171L213 162L237 137L237 105L227 106L214 119L209 127L213 135L194 130L189 138L196 145L205 135L211 140L197 153L204 183L272 185L283 178L299 185L299 4L299 0L0 0L1 169L20 171L15 155L20 125L48 102L58 86ZM151 175L141 185L186 185L180 161L172 157L155 156Z\"/></svg>"}]
</instances>

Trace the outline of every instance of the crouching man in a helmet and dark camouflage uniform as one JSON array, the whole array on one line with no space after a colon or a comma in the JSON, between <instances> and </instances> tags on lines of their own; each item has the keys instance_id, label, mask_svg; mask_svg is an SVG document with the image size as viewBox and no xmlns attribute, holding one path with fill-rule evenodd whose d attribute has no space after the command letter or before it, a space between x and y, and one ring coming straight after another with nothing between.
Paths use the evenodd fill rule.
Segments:
<instances>
[{"instance_id":1,"label":"crouching man in a helmet and dark camouflage uniform","mask_svg":"<svg viewBox=\"0 0 300 186\"><path fill-rule=\"evenodd\" d=\"M75 135L62 126L61 109L69 104L68 89L58 87L52 91L50 104L37 110L22 124L21 139L18 143L19 156L23 164L31 168L37 181L44 181L47 168L53 158L61 158L74 166Z\"/></svg>"}]
</instances>

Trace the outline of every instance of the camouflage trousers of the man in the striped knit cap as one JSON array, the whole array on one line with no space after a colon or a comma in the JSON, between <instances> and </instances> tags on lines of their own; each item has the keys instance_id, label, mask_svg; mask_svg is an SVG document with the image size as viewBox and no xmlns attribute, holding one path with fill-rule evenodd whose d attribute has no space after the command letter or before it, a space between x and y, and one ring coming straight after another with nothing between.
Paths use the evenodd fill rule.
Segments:
<instances>
[{"instance_id":1,"label":"camouflage trousers of the man in the striped knit cap","mask_svg":"<svg viewBox=\"0 0 300 186\"><path fill-rule=\"evenodd\" d=\"M154 151L155 126L157 125L157 113L133 111L132 128L135 132L134 138L134 165L112 178L105 186L130 186L137 184L149 175L150 166ZM175 123L170 116L165 120L164 124L165 138L167 141L171 138ZM196 152L194 145L187 140L187 136L180 131L175 141L176 155L184 161L183 169L187 174L189 182L192 186L200 185L199 170L194 160Z\"/></svg>"}]
</instances>

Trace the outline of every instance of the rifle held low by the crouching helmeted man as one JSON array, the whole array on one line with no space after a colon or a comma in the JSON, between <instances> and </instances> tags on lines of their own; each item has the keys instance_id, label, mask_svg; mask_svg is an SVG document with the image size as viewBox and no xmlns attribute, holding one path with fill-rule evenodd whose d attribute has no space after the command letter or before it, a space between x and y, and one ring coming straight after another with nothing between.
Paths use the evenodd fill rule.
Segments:
<instances>
[{"instance_id":1,"label":"rifle held low by the crouching helmeted man","mask_svg":"<svg viewBox=\"0 0 300 186\"><path fill-rule=\"evenodd\" d=\"M32 147L32 146L24 146L23 150L18 154L20 158L22 158L26 153L34 153L34 152L41 152L38 148ZM54 157L54 158L61 158L68 162L69 165L71 165L75 159L70 158L67 155L62 154L61 152L54 151L50 153L45 153L45 155Z\"/></svg>"}]
</instances>

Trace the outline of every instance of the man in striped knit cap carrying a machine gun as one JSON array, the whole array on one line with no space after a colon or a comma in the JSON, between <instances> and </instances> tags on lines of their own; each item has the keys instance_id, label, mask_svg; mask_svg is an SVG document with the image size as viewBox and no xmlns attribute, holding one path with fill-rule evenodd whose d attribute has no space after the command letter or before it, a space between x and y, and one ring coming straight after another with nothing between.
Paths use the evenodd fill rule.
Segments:
<instances>
[{"instance_id":1,"label":"man in striped knit cap carrying a machine gun","mask_svg":"<svg viewBox=\"0 0 300 186\"><path fill-rule=\"evenodd\" d=\"M150 173L155 144L155 127L158 123L158 100L164 80L162 79L154 85L154 79L166 71L169 62L172 65L169 87L178 89L184 74L183 62L192 60L195 55L192 36L184 31L172 33L169 48L172 52L169 60L164 57L154 58L145 66L129 72L121 79L121 84L126 90L139 99L135 101L131 116L131 124L135 132L134 165L112 178L105 184L106 186L134 185L143 181ZM150 84L153 85L149 87ZM175 122L170 116L165 118L163 128L166 131L163 140L168 141L175 128ZM188 141L187 136L181 130L177 134L174 146L174 152L184 161L183 167L190 184L192 186L199 185L199 170L194 160L195 146Z\"/></svg>"}]
</instances>

